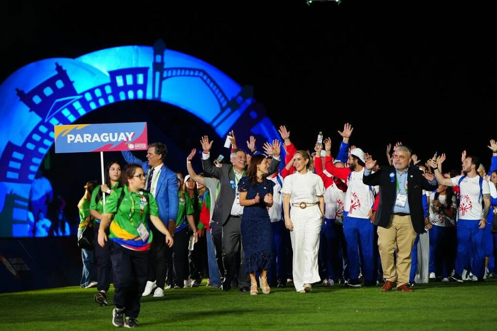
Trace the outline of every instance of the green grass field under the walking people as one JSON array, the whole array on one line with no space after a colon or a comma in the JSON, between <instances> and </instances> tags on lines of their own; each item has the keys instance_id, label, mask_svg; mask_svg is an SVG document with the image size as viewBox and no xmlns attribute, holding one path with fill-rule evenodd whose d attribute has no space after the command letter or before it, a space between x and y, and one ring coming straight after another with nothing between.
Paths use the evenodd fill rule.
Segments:
<instances>
[{"instance_id":1,"label":"green grass field under the walking people","mask_svg":"<svg viewBox=\"0 0 497 331\"><path fill-rule=\"evenodd\" d=\"M238 288L166 290L142 299L140 330L497 330L497 279L416 284L414 293L380 286L293 287L250 296ZM0 330L114 330L112 306L95 289L65 287L0 294ZM260 292L260 289L259 289ZM109 293L112 302L113 290Z\"/></svg>"}]
</instances>

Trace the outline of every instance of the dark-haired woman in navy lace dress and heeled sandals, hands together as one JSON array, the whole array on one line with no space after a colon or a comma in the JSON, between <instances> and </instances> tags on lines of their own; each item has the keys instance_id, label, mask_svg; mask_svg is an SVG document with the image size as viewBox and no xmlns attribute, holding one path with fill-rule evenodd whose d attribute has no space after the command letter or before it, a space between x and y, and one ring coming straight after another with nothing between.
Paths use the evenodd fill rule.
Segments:
<instances>
[{"instance_id":1,"label":"dark-haired woman in navy lace dress and heeled sandals, hands together","mask_svg":"<svg viewBox=\"0 0 497 331\"><path fill-rule=\"evenodd\" d=\"M248 165L247 177L240 179L240 205L242 216L242 242L245 252L245 270L250 274L250 294L257 294L255 272L260 271L259 285L262 293L270 292L267 270L271 264L271 221L267 207L273 205L274 183L266 179L269 164L264 155L255 155Z\"/></svg>"}]
</instances>

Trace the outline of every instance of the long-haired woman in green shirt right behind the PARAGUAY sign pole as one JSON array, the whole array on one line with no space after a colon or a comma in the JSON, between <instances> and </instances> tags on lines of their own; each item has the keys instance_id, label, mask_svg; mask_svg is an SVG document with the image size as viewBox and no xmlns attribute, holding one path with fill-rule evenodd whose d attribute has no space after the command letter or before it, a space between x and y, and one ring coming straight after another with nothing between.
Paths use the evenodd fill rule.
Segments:
<instances>
[{"instance_id":1,"label":"long-haired woman in green shirt right behind the PARAGUAY sign pole","mask_svg":"<svg viewBox=\"0 0 497 331\"><path fill-rule=\"evenodd\" d=\"M112 160L105 166L105 184L98 185L91 194L90 200L90 215L95 219L94 229L95 238L98 236L98 229L100 228L100 219L103 214L103 195L114 194L114 192L121 187L119 178L121 177L121 164L117 160ZM106 229L108 233L108 229ZM94 300L100 306L107 306L107 291L111 282L111 268L110 251L108 247L101 248L95 241L94 257L96 259L97 269L97 294Z\"/></svg>"}]
</instances>

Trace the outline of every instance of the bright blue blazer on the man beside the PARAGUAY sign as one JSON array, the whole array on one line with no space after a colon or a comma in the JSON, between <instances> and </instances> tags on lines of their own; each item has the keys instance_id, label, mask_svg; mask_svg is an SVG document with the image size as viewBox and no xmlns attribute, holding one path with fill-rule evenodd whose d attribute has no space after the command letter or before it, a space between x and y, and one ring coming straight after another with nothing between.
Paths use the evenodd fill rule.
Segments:
<instances>
[{"instance_id":1,"label":"bright blue blazer on the man beside the PARAGUAY sign","mask_svg":"<svg viewBox=\"0 0 497 331\"><path fill-rule=\"evenodd\" d=\"M135 157L130 151L123 151L123 156L126 162L136 163L141 165L143 172L147 174L150 166L147 161L141 161ZM157 207L159 209L159 218L166 225L170 219L176 221L178 214L178 183L176 174L162 165L159 179L157 180L156 196Z\"/></svg>"}]
</instances>

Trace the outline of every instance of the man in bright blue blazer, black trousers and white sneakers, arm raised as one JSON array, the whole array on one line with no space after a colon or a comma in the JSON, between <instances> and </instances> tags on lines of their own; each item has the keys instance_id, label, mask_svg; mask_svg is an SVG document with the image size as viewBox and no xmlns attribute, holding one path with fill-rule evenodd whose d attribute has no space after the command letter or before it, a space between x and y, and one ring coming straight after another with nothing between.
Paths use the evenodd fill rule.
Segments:
<instances>
[{"instance_id":1,"label":"man in bright blue blazer, black trousers and white sneakers, arm raised","mask_svg":"<svg viewBox=\"0 0 497 331\"><path fill-rule=\"evenodd\" d=\"M149 144L147 161L141 161L129 151L122 152L128 163L136 163L142 166L145 178L145 189L150 192L157 201L159 218L163 221L171 234L176 227L176 216L178 213L178 184L177 176L166 167L164 161L167 156L167 147L162 142ZM166 282L166 237L149 222L154 234L152 241L149 279L143 295L154 293L154 297L164 296L164 285Z\"/></svg>"}]
</instances>

